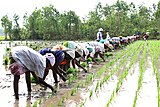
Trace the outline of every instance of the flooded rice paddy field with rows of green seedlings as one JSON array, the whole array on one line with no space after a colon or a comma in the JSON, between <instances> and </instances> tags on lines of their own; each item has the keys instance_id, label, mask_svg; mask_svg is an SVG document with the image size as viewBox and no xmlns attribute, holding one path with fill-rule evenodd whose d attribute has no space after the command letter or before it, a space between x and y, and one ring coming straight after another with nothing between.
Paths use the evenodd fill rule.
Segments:
<instances>
[{"instance_id":1,"label":"flooded rice paddy field with rows of green seedlings","mask_svg":"<svg viewBox=\"0 0 160 107\"><path fill-rule=\"evenodd\" d=\"M39 50L61 42L5 42L0 45L0 103L5 107L160 107L160 41L135 41L110 52L106 62L90 64L88 73L55 85L52 74L46 81L57 90L32 83L28 99L25 79L19 84L20 100L13 96L13 75L3 65L6 48L23 44Z\"/></svg>"}]
</instances>

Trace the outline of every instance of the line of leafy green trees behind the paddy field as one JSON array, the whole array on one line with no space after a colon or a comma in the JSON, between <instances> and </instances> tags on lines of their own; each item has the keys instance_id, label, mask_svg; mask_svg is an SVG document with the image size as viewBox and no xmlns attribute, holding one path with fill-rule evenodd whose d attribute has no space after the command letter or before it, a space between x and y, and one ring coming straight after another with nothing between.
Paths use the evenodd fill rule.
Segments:
<instances>
[{"instance_id":1,"label":"line of leafy green trees behind the paddy field","mask_svg":"<svg viewBox=\"0 0 160 107\"><path fill-rule=\"evenodd\" d=\"M93 40L99 28L104 29L104 35L109 32L111 37L149 31L152 38L157 38L160 1L149 8L120 0L104 6L99 2L83 19L72 10L60 13L49 5L36 8L30 15L25 13L22 27L19 18L17 14L12 20L7 15L1 18L6 40Z\"/></svg>"}]
</instances>

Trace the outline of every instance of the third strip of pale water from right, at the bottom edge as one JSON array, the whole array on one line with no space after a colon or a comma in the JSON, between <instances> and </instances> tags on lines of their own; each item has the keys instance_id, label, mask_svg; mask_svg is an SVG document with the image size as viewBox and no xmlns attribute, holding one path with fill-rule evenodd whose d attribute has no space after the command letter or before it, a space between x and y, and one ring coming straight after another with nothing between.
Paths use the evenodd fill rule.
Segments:
<instances>
[{"instance_id":1,"label":"third strip of pale water from right, at the bottom edge","mask_svg":"<svg viewBox=\"0 0 160 107\"><path fill-rule=\"evenodd\" d=\"M93 86L89 87L88 90L81 92L83 101L85 100L85 103L83 106L84 107L104 107L106 105L106 102L109 101L109 96L111 96L112 91L116 87L116 83L117 83L117 77L113 76L108 80L107 83L103 84L103 86L98 90L98 92L95 92L94 89L96 87L97 81L93 82ZM91 90L93 90L93 95L90 97Z\"/></svg>"}]
</instances>

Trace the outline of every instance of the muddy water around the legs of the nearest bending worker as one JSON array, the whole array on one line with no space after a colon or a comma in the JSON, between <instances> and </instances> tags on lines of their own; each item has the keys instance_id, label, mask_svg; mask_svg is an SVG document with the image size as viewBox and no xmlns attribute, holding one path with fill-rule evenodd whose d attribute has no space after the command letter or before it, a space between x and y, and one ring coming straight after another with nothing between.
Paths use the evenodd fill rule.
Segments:
<instances>
[{"instance_id":1,"label":"muddy water around the legs of the nearest bending worker","mask_svg":"<svg viewBox=\"0 0 160 107\"><path fill-rule=\"evenodd\" d=\"M18 44L20 45L22 43L17 41L9 44L9 41L3 41L2 44L0 44L0 104L4 107L30 107L33 106L36 100L48 96L51 93L49 89L44 90L43 87L33 83L32 92L31 94L28 94L25 77L22 75L19 82L19 101L15 100L13 92L13 75L8 71L8 67L3 65L3 59L6 56L6 48ZM51 73L47 76L46 81L51 85L54 85Z\"/></svg>"}]
</instances>

